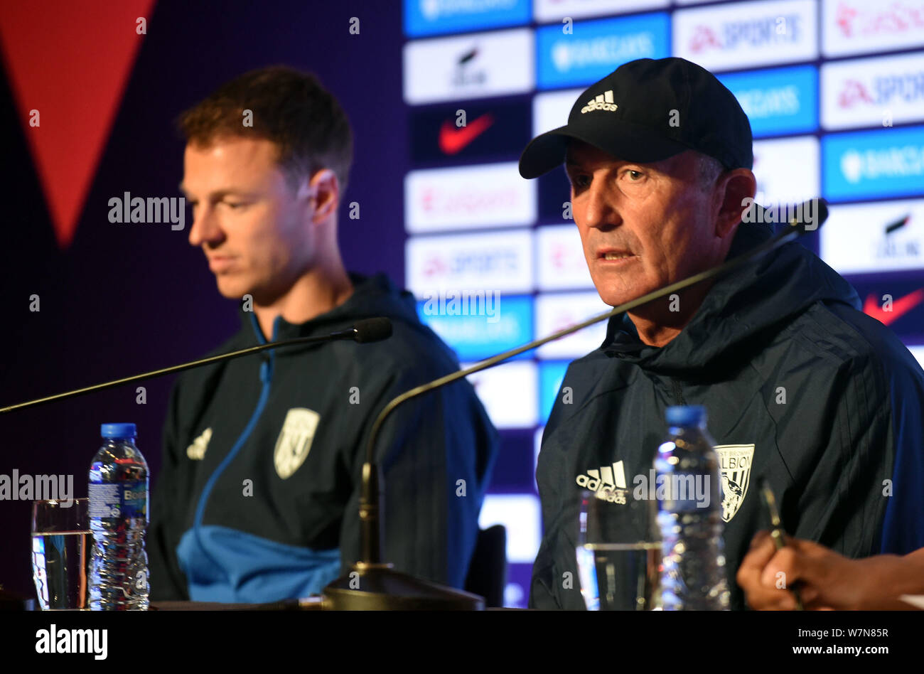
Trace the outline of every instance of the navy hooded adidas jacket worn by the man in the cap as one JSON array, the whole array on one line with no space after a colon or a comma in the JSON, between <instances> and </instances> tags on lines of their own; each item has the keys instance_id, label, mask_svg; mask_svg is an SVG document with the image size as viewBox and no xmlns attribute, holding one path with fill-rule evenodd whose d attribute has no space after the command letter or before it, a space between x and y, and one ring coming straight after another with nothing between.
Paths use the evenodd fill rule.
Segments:
<instances>
[{"instance_id":1,"label":"navy hooded adidas jacket worn by the man in the cap","mask_svg":"<svg viewBox=\"0 0 924 674\"><path fill-rule=\"evenodd\" d=\"M729 256L771 236L741 225ZM924 373L844 278L791 242L718 280L663 348L644 345L620 314L602 347L570 364L536 471L543 537L531 607L584 608L580 493L625 486L632 498L666 435L665 409L683 404L706 407L722 462L733 607L744 607L741 559L769 526L761 475L794 536L850 558L924 547Z\"/></svg>"}]
</instances>

